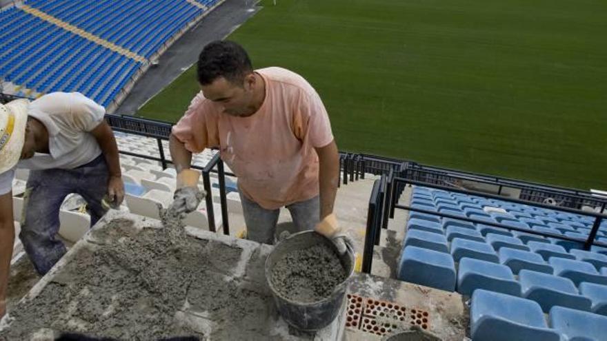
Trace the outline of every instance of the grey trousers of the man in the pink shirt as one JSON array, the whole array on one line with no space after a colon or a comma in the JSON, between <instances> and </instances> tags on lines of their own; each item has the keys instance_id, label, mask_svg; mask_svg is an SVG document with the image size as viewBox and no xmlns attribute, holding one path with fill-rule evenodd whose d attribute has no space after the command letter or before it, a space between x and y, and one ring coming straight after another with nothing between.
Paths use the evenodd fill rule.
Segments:
<instances>
[{"instance_id":1,"label":"grey trousers of the man in the pink shirt","mask_svg":"<svg viewBox=\"0 0 607 341\"><path fill-rule=\"evenodd\" d=\"M240 200L247 228L247 239L273 245L280 209L264 209L242 194L240 194ZM298 203L292 203L286 206L286 208L291 214L297 231L314 229L319 223L320 201L318 196Z\"/></svg>"}]
</instances>

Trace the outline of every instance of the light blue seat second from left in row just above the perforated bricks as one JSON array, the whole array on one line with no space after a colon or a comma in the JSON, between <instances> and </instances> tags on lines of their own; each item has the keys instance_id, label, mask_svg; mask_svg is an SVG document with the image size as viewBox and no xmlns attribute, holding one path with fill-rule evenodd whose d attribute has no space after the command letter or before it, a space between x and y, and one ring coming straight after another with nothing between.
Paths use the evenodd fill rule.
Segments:
<instances>
[{"instance_id":1,"label":"light blue seat second from left in row just above the perforated bricks","mask_svg":"<svg viewBox=\"0 0 607 341\"><path fill-rule=\"evenodd\" d=\"M461 258L457 272L457 292L470 296L476 289L521 296L521 285L506 265Z\"/></svg>"}]
</instances>

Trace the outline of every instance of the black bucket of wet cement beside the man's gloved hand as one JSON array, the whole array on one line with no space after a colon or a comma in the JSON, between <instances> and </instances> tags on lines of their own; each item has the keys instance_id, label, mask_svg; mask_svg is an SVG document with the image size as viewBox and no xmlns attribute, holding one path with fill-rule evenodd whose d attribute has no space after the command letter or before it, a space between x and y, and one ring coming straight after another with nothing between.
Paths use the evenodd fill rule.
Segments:
<instances>
[{"instance_id":1,"label":"black bucket of wet cement beside the man's gloved hand","mask_svg":"<svg viewBox=\"0 0 607 341\"><path fill-rule=\"evenodd\" d=\"M281 296L272 284L272 269L275 263L285 254L297 249L307 249L314 245L325 244L337 253L337 248L328 238L321 236L315 231L304 231L292 234L288 238L279 242L266 260L266 280L272 296L276 302L280 315L293 327L302 331L317 331L327 327L335 318L346 296L346 287L348 279L354 272L354 252L348 247L346 254L340 256L341 265L346 270L348 277L335 287L333 292L327 298L317 302L295 302Z\"/></svg>"}]
</instances>

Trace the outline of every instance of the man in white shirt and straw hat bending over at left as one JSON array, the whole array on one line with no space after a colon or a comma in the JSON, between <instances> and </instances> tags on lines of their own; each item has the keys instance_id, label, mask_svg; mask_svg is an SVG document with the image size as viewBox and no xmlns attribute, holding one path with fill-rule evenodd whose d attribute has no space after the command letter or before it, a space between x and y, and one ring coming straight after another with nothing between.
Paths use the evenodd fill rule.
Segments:
<instances>
[{"instance_id":1,"label":"man in white shirt and straw hat bending over at left","mask_svg":"<svg viewBox=\"0 0 607 341\"><path fill-rule=\"evenodd\" d=\"M0 317L5 313L14 242L12 180L31 169L23 196L19 238L34 268L45 274L66 253L57 238L59 209L70 193L86 200L90 223L124 196L118 147L103 121L105 109L82 94L55 92L31 103L0 105ZM19 161L21 160L21 161Z\"/></svg>"}]
</instances>

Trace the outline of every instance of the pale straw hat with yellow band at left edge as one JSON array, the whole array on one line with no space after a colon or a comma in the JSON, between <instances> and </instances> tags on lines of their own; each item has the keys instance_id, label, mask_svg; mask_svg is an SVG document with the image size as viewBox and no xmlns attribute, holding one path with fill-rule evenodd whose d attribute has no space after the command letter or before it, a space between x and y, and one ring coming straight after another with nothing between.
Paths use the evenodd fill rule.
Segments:
<instances>
[{"instance_id":1,"label":"pale straw hat with yellow band at left edge","mask_svg":"<svg viewBox=\"0 0 607 341\"><path fill-rule=\"evenodd\" d=\"M0 174L12 169L21 158L29 103L27 99L18 99L0 104Z\"/></svg>"}]
</instances>

